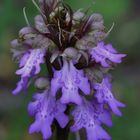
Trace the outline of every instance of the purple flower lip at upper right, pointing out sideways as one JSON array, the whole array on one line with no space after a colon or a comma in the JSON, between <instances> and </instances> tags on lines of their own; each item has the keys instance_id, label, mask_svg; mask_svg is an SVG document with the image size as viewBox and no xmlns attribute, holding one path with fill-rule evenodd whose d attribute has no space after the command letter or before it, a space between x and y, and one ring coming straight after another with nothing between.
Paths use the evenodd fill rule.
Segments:
<instances>
[{"instance_id":1,"label":"purple flower lip at upper right, pointing out sideways","mask_svg":"<svg viewBox=\"0 0 140 140\"><path fill-rule=\"evenodd\" d=\"M111 44L105 45L104 42L99 42L97 47L90 50L90 54L92 59L101 63L103 67L110 66L107 60L117 64L121 63L122 58L126 56L125 54L118 54Z\"/></svg>"}]
</instances>

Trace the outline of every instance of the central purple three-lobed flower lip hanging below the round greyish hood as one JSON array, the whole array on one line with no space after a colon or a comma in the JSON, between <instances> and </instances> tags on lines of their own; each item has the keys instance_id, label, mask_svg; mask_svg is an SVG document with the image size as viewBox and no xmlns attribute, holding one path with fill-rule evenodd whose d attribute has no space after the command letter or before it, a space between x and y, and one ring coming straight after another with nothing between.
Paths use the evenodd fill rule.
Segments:
<instances>
[{"instance_id":1,"label":"central purple three-lobed flower lip hanging below the round greyish hood","mask_svg":"<svg viewBox=\"0 0 140 140\"><path fill-rule=\"evenodd\" d=\"M64 61L63 68L54 72L51 81L51 93L56 95L58 89L62 88L62 103L81 104L82 99L79 95L79 89L85 94L90 94L90 85L88 79L84 77L82 70L77 70L72 61Z\"/></svg>"}]
</instances>

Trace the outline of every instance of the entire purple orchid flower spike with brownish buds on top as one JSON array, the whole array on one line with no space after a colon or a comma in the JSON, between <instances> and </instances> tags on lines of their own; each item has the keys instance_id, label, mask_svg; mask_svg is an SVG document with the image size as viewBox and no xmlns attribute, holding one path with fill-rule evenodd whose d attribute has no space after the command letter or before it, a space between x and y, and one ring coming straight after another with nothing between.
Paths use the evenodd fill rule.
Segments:
<instances>
[{"instance_id":1,"label":"entire purple orchid flower spike with brownish buds on top","mask_svg":"<svg viewBox=\"0 0 140 140\"><path fill-rule=\"evenodd\" d=\"M21 29L11 43L21 77L13 94L32 83L39 90L28 106L35 116L29 133L41 132L47 140L57 121L71 132L84 128L87 140L110 140L102 125L111 127L112 113L121 116L125 105L112 93L109 70L125 54L104 43L108 32L100 14L74 12L61 0L39 0L38 9L34 26Z\"/></svg>"}]
</instances>

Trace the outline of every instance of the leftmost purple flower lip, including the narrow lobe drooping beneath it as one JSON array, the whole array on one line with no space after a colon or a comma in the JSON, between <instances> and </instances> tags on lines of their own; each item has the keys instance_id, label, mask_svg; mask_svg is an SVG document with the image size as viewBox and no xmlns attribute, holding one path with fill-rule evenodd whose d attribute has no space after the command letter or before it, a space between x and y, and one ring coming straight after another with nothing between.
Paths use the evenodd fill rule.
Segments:
<instances>
[{"instance_id":1,"label":"leftmost purple flower lip, including the narrow lobe drooping beneath it","mask_svg":"<svg viewBox=\"0 0 140 140\"><path fill-rule=\"evenodd\" d=\"M16 95L22 90L27 89L28 78L40 72L40 64L44 63L45 52L45 48L31 49L23 55L19 63L20 69L16 71L16 74L21 75L21 80L17 83L13 94Z\"/></svg>"}]
</instances>

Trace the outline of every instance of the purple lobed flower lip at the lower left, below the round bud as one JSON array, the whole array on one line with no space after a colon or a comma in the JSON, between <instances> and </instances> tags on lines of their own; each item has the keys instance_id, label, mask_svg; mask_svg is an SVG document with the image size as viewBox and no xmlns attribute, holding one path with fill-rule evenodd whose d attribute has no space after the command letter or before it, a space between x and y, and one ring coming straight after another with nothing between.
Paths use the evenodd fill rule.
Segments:
<instances>
[{"instance_id":1,"label":"purple lobed flower lip at the lower left, below the round bud","mask_svg":"<svg viewBox=\"0 0 140 140\"><path fill-rule=\"evenodd\" d=\"M28 106L29 114L35 116L35 122L30 126L29 132L41 132L43 139L46 140L52 135L51 125L54 119L58 121L62 128L67 125L68 117L64 114L66 105L56 101L49 91L35 94L34 100Z\"/></svg>"}]
</instances>

